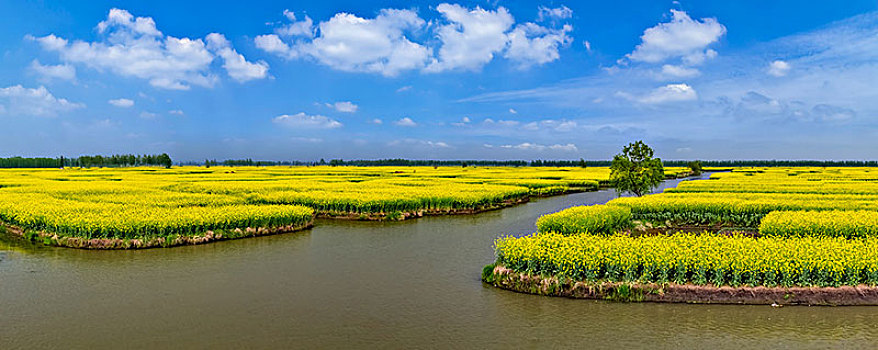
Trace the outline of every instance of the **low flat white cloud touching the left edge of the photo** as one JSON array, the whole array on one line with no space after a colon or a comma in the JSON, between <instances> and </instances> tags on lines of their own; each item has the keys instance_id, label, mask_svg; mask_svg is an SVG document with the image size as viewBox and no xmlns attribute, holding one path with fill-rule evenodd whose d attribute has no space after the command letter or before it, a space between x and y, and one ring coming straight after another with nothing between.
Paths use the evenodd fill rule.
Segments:
<instances>
[{"instance_id":1,"label":"low flat white cloud touching the left edge of the photo","mask_svg":"<svg viewBox=\"0 0 878 350\"><path fill-rule=\"evenodd\" d=\"M36 89L21 85L0 88L0 114L54 117L84 107L82 103L55 97L44 86Z\"/></svg>"}]
</instances>

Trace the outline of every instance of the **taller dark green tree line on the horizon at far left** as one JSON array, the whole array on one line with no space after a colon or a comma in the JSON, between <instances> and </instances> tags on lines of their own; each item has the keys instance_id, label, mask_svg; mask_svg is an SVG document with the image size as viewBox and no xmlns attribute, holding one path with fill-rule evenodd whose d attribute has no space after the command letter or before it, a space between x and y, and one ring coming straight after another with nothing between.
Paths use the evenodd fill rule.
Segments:
<instances>
[{"instance_id":1,"label":"taller dark green tree line on the horizon at far left","mask_svg":"<svg viewBox=\"0 0 878 350\"><path fill-rule=\"evenodd\" d=\"M77 158L0 158L0 168L117 168L127 166L163 166L170 168L173 165L171 157L167 153L162 154L114 154L111 156L79 156Z\"/></svg>"}]
</instances>

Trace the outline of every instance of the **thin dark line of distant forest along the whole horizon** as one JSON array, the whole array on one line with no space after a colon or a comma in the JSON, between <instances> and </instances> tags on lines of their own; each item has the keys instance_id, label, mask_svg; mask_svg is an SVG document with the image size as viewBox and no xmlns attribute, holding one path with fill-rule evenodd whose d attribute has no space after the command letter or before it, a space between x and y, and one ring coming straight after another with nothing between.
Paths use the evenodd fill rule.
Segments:
<instances>
[{"instance_id":1,"label":"thin dark line of distant forest along the whole horizon","mask_svg":"<svg viewBox=\"0 0 878 350\"><path fill-rule=\"evenodd\" d=\"M610 160L412 160L412 159L375 159L375 160L343 160L324 159L319 161L266 161L253 159L227 159L224 161L204 160L201 162L178 162L177 165L196 166L534 166L534 167L589 167L610 166ZM662 161L666 167L687 167L689 160ZM701 166L706 168L725 167L878 167L878 161L869 160L702 160ZM167 154L159 155L112 155L112 156L80 156L78 158L0 158L0 168L60 168L65 167L129 167L129 166L163 166L173 165Z\"/></svg>"}]
</instances>

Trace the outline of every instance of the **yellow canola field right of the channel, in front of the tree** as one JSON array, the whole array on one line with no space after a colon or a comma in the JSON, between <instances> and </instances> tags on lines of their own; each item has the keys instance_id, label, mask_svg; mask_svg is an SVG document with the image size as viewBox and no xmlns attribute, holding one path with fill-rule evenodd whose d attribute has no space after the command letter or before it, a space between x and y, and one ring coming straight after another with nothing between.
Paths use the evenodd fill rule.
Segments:
<instances>
[{"instance_id":1,"label":"yellow canola field right of the channel, in front of the tree","mask_svg":"<svg viewBox=\"0 0 878 350\"><path fill-rule=\"evenodd\" d=\"M598 283L878 285L876 199L875 168L735 169L546 215L498 239L497 264Z\"/></svg>"}]
</instances>

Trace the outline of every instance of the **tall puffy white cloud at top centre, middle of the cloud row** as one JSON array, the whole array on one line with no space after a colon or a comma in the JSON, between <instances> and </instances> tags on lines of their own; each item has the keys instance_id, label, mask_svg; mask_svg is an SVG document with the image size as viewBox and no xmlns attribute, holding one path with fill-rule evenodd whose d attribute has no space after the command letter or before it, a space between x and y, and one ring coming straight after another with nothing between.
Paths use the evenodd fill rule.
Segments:
<instances>
[{"instance_id":1,"label":"tall puffy white cloud at top centre, middle of the cloud row","mask_svg":"<svg viewBox=\"0 0 878 350\"><path fill-rule=\"evenodd\" d=\"M456 4L442 3L436 7L449 22L436 30L442 46L438 60L427 71L441 72L451 69L478 70L501 52L509 38L506 31L515 19L506 8L496 11L476 7L468 10Z\"/></svg>"}]
</instances>

